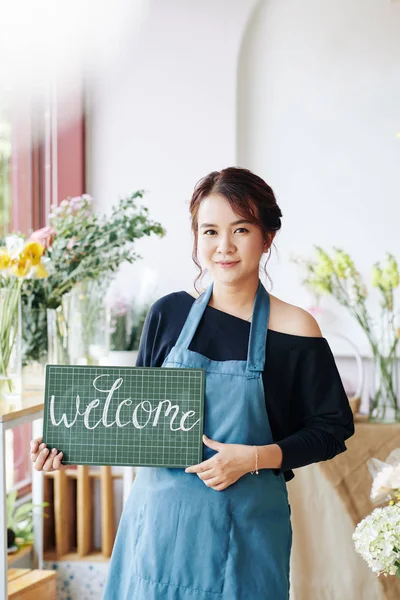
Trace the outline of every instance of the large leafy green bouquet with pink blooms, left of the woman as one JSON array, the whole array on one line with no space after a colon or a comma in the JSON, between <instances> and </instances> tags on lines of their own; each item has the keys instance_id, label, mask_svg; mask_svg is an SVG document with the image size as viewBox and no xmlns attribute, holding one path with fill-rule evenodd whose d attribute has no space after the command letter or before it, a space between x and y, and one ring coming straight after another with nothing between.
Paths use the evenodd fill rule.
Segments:
<instances>
[{"instance_id":1,"label":"large leafy green bouquet with pink blooms, left of the woman","mask_svg":"<svg viewBox=\"0 0 400 600\"><path fill-rule=\"evenodd\" d=\"M51 268L46 281L24 285L25 362L38 360L47 352L46 328L37 325L45 320L46 309L60 307L63 297L78 283L104 280L123 262L139 259L134 250L137 239L165 234L160 223L149 218L148 209L137 204L143 196L139 190L121 199L108 216L93 212L87 194L67 198L52 207L50 226L33 232L31 240L46 249Z\"/></svg>"}]
</instances>

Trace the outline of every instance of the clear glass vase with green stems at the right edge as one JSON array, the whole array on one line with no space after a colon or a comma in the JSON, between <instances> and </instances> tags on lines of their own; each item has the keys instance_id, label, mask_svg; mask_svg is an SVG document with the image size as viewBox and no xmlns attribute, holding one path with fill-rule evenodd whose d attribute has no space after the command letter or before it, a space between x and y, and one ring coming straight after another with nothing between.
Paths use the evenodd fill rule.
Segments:
<instances>
[{"instance_id":1,"label":"clear glass vase with green stems at the right edge","mask_svg":"<svg viewBox=\"0 0 400 600\"><path fill-rule=\"evenodd\" d=\"M369 420L400 421L399 331L387 315L382 316L379 344L373 348L373 379Z\"/></svg>"}]
</instances>

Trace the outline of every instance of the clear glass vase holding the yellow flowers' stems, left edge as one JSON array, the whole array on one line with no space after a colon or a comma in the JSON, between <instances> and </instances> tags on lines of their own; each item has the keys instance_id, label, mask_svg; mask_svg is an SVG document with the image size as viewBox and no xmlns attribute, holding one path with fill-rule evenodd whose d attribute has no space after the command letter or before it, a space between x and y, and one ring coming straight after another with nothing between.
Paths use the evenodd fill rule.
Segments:
<instances>
[{"instance_id":1,"label":"clear glass vase holding the yellow flowers' stems, left edge","mask_svg":"<svg viewBox=\"0 0 400 600\"><path fill-rule=\"evenodd\" d=\"M0 400L21 402L21 287L16 280L0 289Z\"/></svg>"}]
</instances>

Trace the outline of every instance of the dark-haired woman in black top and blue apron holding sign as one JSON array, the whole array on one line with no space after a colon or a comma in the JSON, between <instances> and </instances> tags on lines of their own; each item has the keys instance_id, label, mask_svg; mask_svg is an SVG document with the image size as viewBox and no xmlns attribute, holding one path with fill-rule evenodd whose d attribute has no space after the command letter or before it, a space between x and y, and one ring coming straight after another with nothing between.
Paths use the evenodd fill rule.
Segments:
<instances>
[{"instance_id":1,"label":"dark-haired woman in black top and blue apron holding sign","mask_svg":"<svg viewBox=\"0 0 400 600\"><path fill-rule=\"evenodd\" d=\"M210 173L190 213L193 259L212 284L152 306L137 365L206 370L204 460L138 469L103 598L287 600L286 481L346 449L352 413L316 321L260 282L281 227L269 185L246 169ZM60 468L40 442L35 467Z\"/></svg>"}]
</instances>

